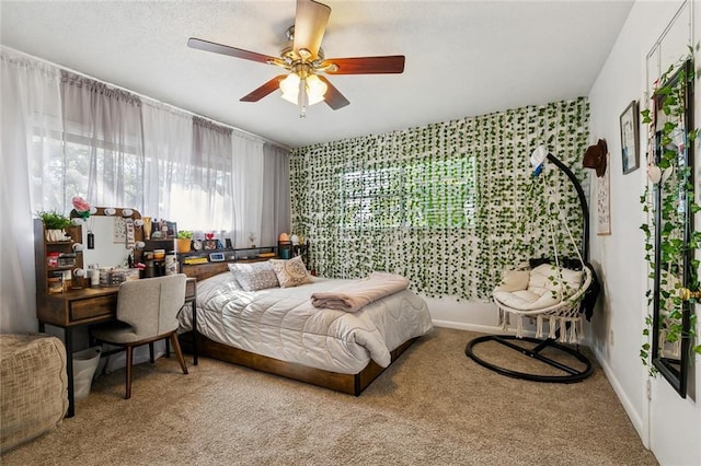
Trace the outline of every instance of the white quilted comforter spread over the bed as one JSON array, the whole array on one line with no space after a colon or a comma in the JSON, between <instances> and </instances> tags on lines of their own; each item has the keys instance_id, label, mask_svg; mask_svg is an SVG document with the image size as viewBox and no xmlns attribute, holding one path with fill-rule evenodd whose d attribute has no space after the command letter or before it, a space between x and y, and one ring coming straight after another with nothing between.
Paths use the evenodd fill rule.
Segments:
<instances>
[{"instance_id":1,"label":"white quilted comforter spread over the bed","mask_svg":"<svg viewBox=\"0 0 701 466\"><path fill-rule=\"evenodd\" d=\"M433 328L426 302L409 290L346 313L314 307L310 296L350 280L314 278L261 291L237 290L232 280L226 272L197 283L197 329L211 340L283 361L356 374L370 359L388 366L390 351ZM181 331L192 329L189 314L181 312Z\"/></svg>"}]
</instances>

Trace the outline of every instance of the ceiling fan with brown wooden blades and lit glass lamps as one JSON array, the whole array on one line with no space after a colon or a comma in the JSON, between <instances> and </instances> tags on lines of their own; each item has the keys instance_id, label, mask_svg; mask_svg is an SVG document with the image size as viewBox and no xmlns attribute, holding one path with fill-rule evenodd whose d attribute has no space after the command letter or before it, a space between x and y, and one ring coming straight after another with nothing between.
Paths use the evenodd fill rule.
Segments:
<instances>
[{"instance_id":1,"label":"ceiling fan with brown wooden blades and lit glass lamps","mask_svg":"<svg viewBox=\"0 0 701 466\"><path fill-rule=\"evenodd\" d=\"M277 89L283 98L299 105L303 118L308 105L322 100L334 110L348 105L348 100L320 73L325 74L382 74L402 73L404 56L329 58L321 48L331 8L314 0L297 0L295 24L287 30L288 44L279 57L256 54L241 48L191 37L187 46L244 60L275 65L287 71L241 97L241 102L257 102Z\"/></svg>"}]
</instances>

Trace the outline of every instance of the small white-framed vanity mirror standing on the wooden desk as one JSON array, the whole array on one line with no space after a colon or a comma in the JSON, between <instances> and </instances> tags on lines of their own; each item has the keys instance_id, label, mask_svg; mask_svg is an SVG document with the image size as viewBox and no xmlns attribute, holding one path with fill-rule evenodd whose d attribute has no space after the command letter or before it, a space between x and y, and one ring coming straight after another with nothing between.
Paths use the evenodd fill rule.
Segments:
<instances>
[{"instance_id":1,"label":"small white-framed vanity mirror standing on the wooden desk","mask_svg":"<svg viewBox=\"0 0 701 466\"><path fill-rule=\"evenodd\" d=\"M70 217L80 215L73 210ZM141 214L136 209L99 207L81 226L84 267L122 267L143 241Z\"/></svg>"}]
</instances>

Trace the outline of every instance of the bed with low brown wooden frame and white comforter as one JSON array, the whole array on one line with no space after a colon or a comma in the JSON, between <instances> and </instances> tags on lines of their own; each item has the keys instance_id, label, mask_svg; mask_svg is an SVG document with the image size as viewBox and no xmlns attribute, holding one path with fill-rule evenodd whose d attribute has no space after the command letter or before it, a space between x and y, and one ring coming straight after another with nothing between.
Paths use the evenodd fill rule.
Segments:
<instances>
[{"instance_id":1,"label":"bed with low brown wooden frame and white comforter","mask_svg":"<svg viewBox=\"0 0 701 466\"><path fill-rule=\"evenodd\" d=\"M433 329L426 302L407 289L345 312L315 307L311 296L357 281L310 277L299 286L245 291L221 270L218 265L195 273L200 356L357 396ZM186 348L192 321L186 306L180 314Z\"/></svg>"}]
</instances>

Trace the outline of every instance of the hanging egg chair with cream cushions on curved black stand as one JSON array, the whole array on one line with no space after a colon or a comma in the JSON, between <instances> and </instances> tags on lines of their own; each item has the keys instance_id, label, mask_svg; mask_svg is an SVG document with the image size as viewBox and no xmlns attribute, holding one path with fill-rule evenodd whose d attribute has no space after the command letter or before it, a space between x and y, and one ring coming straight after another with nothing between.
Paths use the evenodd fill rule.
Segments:
<instances>
[{"instance_id":1,"label":"hanging egg chair with cream cushions on curved black stand","mask_svg":"<svg viewBox=\"0 0 701 466\"><path fill-rule=\"evenodd\" d=\"M474 338L468 342L466 354L480 365L510 377L536 382L572 383L588 377L593 371L591 362L578 351L578 347L572 347L572 345L578 343L584 337L583 314L590 317L599 286L591 266L586 261L589 214L582 186L570 168L548 153L542 145L538 147L530 158L535 167L533 176L537 179L543 178L540 175L544 170L545 160L562 170L577 191L584 222L582 244L577 245L574 241L565 212L554 199L552 186L545 186L549 219L531 217L530 220L545 225L550 236L549 243L552 245L552 255L550 258L520 261L517 266L504 270L502 281L492 293L498 308L502 328L508 330L512 321L515 321L515 335L487 335ZM524 215L525 212L521 211L521 219ZM576 258L562 257L558 251L556 232L559 231L566 232L576 252ZM535 338L525 336L526 321L536 324ZM515 364L510 364L510 361L509 363L491 362L490 351L484 349L475 351L476 346L490 342L515 350L527 360L515 361ZM484 345L483 348L494 347ZM528 369L520 369L524 365Z\"/></svg>"}]
</instances>

